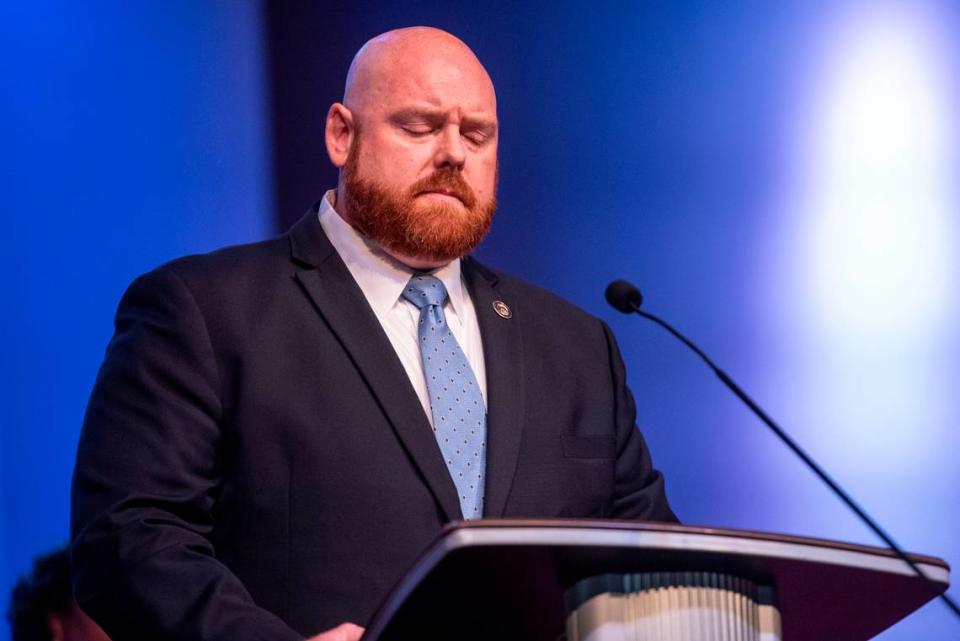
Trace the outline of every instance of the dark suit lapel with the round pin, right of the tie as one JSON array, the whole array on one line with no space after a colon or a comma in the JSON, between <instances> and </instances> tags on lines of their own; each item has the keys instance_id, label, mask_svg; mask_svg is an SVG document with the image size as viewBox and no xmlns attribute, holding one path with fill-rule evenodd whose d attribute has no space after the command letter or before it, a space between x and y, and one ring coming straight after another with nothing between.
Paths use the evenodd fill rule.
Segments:
<instances>
[{"instance_id":1,"label":"dark suit lapel with the round pin, right of the tie","mask_svg":"<svg viewBox=\"0 0 960 641\"><path fill-rule=\"evenodd\" d=\"M487 370L487 480L484 516L503 516L517 469L524 418L523 345L520 301L497 289L497 277L472 258L462 263L464 279L477 311ZM495 303L506 304L504 318ZM499 307L499 305L498 305ZM502 309L502 308L501 308Z\"/></svg>"}]
</instances>

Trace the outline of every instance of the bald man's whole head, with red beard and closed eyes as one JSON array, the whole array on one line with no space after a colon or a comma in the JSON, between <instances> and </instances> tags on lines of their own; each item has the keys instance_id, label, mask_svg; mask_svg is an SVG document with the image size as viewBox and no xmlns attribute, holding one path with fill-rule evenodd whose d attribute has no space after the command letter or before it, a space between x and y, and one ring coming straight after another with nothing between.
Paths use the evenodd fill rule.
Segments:
<instances>
[{"instance_id":1,"label":"bald man's whole head, with red beard and closed eyes","mask_svg":"<svg viewBox=\"0 0 960 641\"><path fill-rule=\"evenodd\" d=\"M498 133L493 83L461 40L430 27L379 35L327 113L337 213L415 269L463 256L496 207Z\"/></svg>"}]
</instances>

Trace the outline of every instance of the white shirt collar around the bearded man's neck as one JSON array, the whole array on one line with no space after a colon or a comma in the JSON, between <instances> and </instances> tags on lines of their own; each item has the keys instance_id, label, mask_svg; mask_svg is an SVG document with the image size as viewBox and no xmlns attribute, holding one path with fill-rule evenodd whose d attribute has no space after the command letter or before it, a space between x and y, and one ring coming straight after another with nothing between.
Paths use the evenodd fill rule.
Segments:
<instances>
[{"instance_id":1,"label":"white shirt collar around the bearded man's neck","mask_svg":"<svg viewBox=\"0 0 960 641\"><path fill-rule=\"evenodd\" d=\"M336 197L337 192L333 189L323 195L318 212L320 226L357 281L374 313L384 316L401 302L403 288L415 270L384 252L341 218L334 209ZM430 274L443 282L454 313L462 318L466 290L460 277L460 259L456 258Z\"/></svg>"}]
</instances>

